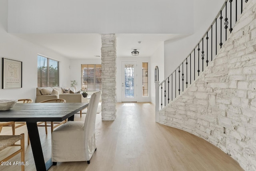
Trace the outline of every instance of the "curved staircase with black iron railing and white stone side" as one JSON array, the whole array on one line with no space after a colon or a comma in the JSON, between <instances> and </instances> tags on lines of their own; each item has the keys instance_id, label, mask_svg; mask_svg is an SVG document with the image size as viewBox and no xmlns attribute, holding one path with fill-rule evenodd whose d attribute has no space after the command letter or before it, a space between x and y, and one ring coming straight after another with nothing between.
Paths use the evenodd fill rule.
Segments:
<instances>
[{"instance_id":1,"label":"curved staircase with black iron railing and white stone side","mask_svg":"<svg viewBox=\"0 0 256 171\"><path fill-rule=\"evenodd\" d=\"M202 137L245 170L256 170L255 10L255 0L226 1L188 57L156 82L157 122Z\"/></svg>"}]
</instances>

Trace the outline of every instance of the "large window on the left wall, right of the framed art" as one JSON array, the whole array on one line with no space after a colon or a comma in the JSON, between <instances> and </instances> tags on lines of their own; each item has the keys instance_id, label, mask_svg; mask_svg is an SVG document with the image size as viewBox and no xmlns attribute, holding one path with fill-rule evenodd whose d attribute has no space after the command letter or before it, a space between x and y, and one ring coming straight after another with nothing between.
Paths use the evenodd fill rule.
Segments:
<instances>
[{"instance_id":1,"label":"large window on the left wall, right of the framed art","mask_svg":"<svg viewBox=\"0 0 256 171\"><path fill-rule=\"evenodd\" d=\"M38 87L52 87L59 85L59 62L46 58L44 56L37 56L37 86Z\"/></svg>"}]
</instances>

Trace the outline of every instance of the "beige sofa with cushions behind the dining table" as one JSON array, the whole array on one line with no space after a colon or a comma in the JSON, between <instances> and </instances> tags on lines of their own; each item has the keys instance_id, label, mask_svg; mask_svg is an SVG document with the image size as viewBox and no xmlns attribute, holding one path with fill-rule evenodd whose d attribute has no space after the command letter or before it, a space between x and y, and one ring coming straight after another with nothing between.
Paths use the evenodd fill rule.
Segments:
<instances>
[{"instance_id":1,"label":"beige sofa with cushions behind the dining table","mask_svg":"<svg viewBox=\"0 0 256 171\"><path fill-rule=\"evenodd\" d=\"M88 103L87 97L81 93L74 93L67 87L37 87L36 103L48 99L65 99L66 103Z\"/></svg>"}]
</instances>

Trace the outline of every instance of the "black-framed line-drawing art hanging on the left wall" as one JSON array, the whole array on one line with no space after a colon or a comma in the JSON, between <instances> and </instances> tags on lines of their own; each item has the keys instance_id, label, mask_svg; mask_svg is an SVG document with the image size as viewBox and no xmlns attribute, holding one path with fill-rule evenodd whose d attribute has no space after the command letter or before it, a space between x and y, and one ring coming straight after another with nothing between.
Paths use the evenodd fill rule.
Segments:
<instances>
[{"instance_id":1,"label":"black-framed line-drawing art hanging on the left wall","mask_svg":"<svg viewBox=\"0 0 256 171\"><path fill-rule=\"evenodd\" d=\"M22 62L3 58L2 64L2 88L21 88Z\"/></svg>"}]
</instances>

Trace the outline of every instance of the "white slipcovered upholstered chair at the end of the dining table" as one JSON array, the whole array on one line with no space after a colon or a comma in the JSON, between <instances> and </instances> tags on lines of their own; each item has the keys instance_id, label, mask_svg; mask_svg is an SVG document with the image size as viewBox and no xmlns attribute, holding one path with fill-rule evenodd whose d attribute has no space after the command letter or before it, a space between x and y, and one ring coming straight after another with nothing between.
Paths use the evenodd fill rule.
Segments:
<instances>
[{"instance_id":1,"label":"white slipcovered upholstered chair at the end of the dining table","mask_svg":"<svg viewBox=\"0 0 256 171\"><path fill-rule=\"evenodd\" d=\"M96 150L95 121L101 92L93 93L85 121L68 121L52 132L52 162L87 161Z\"/></svg>"}]
</instances>

